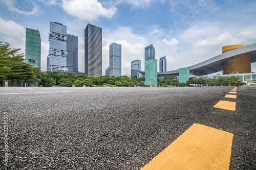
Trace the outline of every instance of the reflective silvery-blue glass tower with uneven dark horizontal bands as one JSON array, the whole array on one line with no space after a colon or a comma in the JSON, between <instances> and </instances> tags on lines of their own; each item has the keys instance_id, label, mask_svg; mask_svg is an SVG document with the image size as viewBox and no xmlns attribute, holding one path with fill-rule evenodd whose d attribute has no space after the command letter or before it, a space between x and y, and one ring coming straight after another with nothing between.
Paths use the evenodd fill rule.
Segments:
<instances>
[{"instance_id":1,"label":"reflective silvery-blue glass tower with uneven dark horizontal bands","mask_svg":"<svg viewBox=\"0 0 256 170\"><path fill-rule=\"evenodd\" d=\"M58 22L50 22L48 71L67 71L67 27Z\"/></svg>"}]
</instances>

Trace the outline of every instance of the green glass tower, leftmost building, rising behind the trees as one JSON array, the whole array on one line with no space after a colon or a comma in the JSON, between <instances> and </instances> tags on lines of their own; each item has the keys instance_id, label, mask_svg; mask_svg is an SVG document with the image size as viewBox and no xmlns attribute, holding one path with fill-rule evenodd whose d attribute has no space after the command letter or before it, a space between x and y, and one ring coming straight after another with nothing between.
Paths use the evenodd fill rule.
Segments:
<instances>
[{"instance_id":1,"label":"green glass tower, leftmost building, rising behind the trees","mask_svg":"<svg viewBox=\"0 0 256 170\"><path fill-rule=\"evenodd\" d=\"M26 28L25 62L41 67L41 38L38 30Z\"/></svg>"}]
</instances>

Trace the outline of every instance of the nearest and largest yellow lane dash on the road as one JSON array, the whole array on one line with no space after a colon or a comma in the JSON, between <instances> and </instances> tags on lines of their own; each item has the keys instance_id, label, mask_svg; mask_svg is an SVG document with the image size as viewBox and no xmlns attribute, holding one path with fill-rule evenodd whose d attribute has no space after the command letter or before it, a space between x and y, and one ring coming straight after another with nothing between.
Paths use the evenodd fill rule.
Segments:
<instances>
[{"instance_id":1,"label":"nearest and largest yellow lane dash on the road","mask_svg":"<svg viewBox=\"0 0 256 170\"><path fill-rule=\"evenodd\" d=\"M233 134L192 125L141 170L229 169Z\"/></svg>"}]
</instances>

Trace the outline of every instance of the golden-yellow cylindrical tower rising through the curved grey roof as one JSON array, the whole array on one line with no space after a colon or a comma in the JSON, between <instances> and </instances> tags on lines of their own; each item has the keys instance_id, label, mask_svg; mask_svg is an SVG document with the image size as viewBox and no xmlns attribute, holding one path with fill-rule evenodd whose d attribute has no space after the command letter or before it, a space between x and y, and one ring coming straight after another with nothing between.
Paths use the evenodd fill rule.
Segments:
<instances>
[{"instance_id":1,"label":"golden-yellow cylindrical tower rising through the curved grey roof","mask_svg":"<svg viewBox=\"0 0 256 170\"><path fill-rule=\"evenodd\" d=\"M229 52L245 45L227 45L222 47L222 53ZM223 75L251 72L251 55L243 55L229 59L222 64Z\"/></svg>"}]
</instances>

